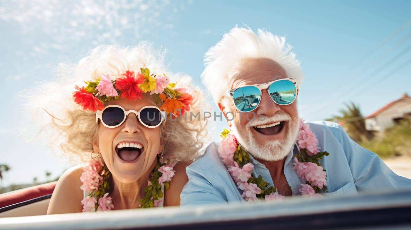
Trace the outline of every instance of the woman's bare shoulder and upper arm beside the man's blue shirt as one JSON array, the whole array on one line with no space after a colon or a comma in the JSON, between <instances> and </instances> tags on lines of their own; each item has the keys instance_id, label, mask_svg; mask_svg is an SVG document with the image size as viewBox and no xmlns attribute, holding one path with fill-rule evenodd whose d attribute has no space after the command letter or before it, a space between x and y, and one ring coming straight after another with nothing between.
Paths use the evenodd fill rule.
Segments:
<instances>
[{"instance_id":1,"label":"woman's bare shoulder and upper arm beside the man's blue shirt","mask_svg":"<svg viewBox=\"0 0 411 230\"><path fill-rule=\"evenodd\" d=\"M188 176L185 172L185 168L190 163L178 162L174 166L175 174L170 181L170 187L165 192L164 206L180 205L180 194L184 185L188 182Z\"/></svg>"}]
</instances>

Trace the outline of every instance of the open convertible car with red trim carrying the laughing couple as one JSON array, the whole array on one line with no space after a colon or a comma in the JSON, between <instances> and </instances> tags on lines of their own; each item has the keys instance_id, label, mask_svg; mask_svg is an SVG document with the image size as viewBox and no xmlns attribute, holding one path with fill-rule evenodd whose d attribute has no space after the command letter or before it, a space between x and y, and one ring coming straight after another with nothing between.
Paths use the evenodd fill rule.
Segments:
<instances>
[{"instance_id":1,"label":"open convertible car with red trim carrying the laughing couple","mask_svg":"<svg viewBox=\"0 0 411 230\"><path fill-rule=\"evenodd\" d=\"M411 190L45 215L55 182L0 195L0 229L411 229Z\"/></svg>"}]
</instances>

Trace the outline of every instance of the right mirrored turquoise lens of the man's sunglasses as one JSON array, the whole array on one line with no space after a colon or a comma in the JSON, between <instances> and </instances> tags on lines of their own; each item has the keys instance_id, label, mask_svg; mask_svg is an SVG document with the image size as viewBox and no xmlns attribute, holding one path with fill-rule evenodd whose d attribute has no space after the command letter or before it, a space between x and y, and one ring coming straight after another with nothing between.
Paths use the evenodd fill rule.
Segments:
<instances>
[{"instance_id":1,"label":"right mirrored turquoise lens of the man's sunglasses","mask_svg":"<svg viewBox=\"0 0 411 230\"><path fill-rule=\"evenodd\" d=\"M277 104L289 105L296 98L297 89L296 85L290 80L281 80L273 82L268 87L268 93Z\"/></svg>"}]
</instances>

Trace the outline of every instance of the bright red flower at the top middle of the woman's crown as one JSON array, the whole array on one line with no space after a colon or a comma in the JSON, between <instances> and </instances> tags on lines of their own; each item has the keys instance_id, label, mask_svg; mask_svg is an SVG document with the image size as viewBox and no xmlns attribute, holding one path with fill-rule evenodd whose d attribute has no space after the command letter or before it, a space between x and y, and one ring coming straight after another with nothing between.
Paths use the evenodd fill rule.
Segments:
<instances>
[{"instance_id":1,"label":"bright red flower at the top middle of the woman's crown","mask_svg":"<svg viewBox=\"0 0 411 230\"><path fill-rule=\"evenodd\" d=\"M133 71L126 71L122 74L124 77L118 78L115 82L115 88L121 91L120 98L127 98L127 100L137 100L137 98L143 98L141 93L143 92L139 88L139 84L144 82L144 77L134 75Z\"/></svg>"}]
</instances>

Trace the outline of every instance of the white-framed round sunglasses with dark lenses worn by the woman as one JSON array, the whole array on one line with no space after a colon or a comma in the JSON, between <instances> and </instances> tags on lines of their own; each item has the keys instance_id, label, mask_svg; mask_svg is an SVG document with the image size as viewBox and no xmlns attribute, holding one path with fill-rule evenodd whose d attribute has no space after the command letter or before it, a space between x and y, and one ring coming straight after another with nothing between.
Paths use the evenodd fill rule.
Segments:
<instances>
[{"instance_id":1,"label":"white-framed round sunglasses with dark lenses worn by the woman","mask_svg":"<svg viewBox=\"0 0 411 230\"><path fill-rule=\"evenodd\" d=\"M107 128L116 128L124 123L130 113L136 114L140 123L147 128L158 127L163 121L166 121L167 117L165 111L161 111L154 105L144 106L139 111L133 109L126 111L120 105L108 105L103 110L97 110L96 122L98 124L100 119Z\"/></svg>"}]
</instances>

